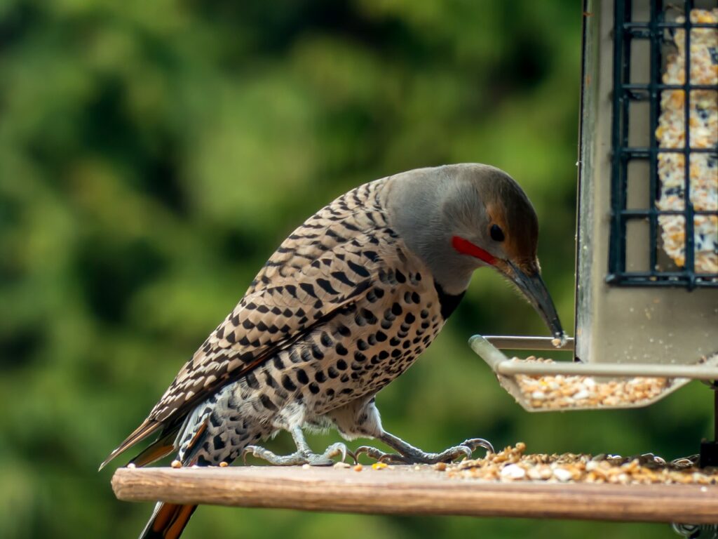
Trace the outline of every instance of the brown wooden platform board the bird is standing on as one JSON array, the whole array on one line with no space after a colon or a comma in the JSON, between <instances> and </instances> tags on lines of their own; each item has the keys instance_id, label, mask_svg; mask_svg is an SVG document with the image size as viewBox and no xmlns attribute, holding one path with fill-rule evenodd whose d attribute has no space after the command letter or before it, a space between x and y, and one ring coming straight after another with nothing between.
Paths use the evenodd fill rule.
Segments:
<instances>
[{"instance_id":1,"label":"brown wooden platform board the bird is standing on","mask_svg":"<svg viewBox=\"0 0 718 539\"><path fill-rule=\"evenodd\" d=\"M118 499L394 515L718 522L718 486L494 483L429 467L121 468Z\"/></svg>"}]
</instances>

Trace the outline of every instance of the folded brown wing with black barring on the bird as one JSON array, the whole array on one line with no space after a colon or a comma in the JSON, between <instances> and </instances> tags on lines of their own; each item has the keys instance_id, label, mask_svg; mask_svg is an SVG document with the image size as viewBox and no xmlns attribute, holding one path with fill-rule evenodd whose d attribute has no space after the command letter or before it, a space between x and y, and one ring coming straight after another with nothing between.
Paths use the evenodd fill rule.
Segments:
<instances>
[{"instance_id":1,"label":"folded brown wing with black barring on the bird","mask_svg":"<svg viewBox=\"0 0 718 539\"><path fill-rule=\"evenodd\" d=\"M376 207L365 207L360 213L350 206L337 210L337 202L351 194L317 213L284 241L248 294L103 466L159 428L172 425L176 430L197 402L365 295L381 272L383 253L396 239ZM373 214L369 221L368 213ZM378 228L380 224L384 226ZM314 234L319 237L307 238ZM393 255L394 249L389 252Z\"/></svg>"}]
</instances>

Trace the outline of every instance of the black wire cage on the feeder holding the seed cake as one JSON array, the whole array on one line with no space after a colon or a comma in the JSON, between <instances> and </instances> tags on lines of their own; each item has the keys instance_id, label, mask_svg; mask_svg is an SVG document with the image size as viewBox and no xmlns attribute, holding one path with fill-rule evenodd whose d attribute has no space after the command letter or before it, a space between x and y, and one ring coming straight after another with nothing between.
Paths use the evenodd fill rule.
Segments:
<instances>
[{"instance_id":1,"label":"black wire cage on the feeder holding the seed cake","mask_svg":"<svg viewBox=\"0 0 718 539\"><path fill-rule=\"evenodd\" d=\"M641 10L635 4L615 0L607 282L718 287L718 127L711 133L718 114L718 47L711 46L718 24L699 11L710 14L718 2L648 0ZM699 70L710 75L707 81ZM682 257L671 241L680 241Z\"/></svg>"}]
</instances>

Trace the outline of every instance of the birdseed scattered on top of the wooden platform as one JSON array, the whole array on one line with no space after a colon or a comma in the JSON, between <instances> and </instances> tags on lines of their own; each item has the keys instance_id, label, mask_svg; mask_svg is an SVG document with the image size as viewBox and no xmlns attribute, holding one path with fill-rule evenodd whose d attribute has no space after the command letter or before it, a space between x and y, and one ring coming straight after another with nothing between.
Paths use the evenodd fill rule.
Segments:
<instances>
[{"instance_id":1,"label":"birdseed scattered on top of the wooden platform","mask_svg":"<svg viewBox=\"0 0 718 539\"><path fill-rule=\"evenodd\" d=\"M488 481L587 482L612 484L718 484L718 469L699 469L692 459L666 462L652 453L635 457L563 453L526 455L516 443L484 459L466 460L437 469L458 479Z\"/></svg>"}]
</instances>

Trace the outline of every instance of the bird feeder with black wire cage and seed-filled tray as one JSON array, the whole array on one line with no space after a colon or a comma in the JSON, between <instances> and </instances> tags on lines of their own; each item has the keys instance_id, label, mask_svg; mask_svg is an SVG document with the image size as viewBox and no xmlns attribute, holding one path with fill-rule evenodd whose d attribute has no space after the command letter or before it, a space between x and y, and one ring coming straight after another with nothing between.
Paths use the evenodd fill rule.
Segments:
<instances>
[{"instance_id":1,"label":"bird feeder with black wire cage and seed-filled tray","mask_svg":"<svg viewBox=\"0 0 718 539\"><path fill-rule=\"evenodd\" d=\"M499 350L551 338L471 340L530 411L718 379L718 2L588 0L582 50L574 361Z\"/></svg>"}]
</instances>

